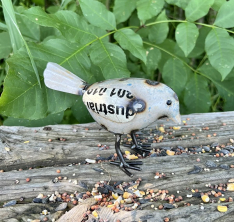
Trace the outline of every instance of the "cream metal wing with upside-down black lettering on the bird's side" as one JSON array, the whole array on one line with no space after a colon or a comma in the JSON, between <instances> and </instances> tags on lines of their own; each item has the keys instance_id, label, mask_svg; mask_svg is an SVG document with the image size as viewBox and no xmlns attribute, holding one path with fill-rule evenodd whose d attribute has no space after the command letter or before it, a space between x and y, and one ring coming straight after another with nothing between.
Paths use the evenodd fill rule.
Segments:
<instances>
[{"instance_id":1,"label":"cream metal wing with upside-down black lettering on the bird's side","mask_svg":"<svg viewBox=\"0 0 234 222\"><path fill-rule=\"evenodd\" d=\"M100 115L112 122L129 122L144 111L145 102L131 92L120 88L90 87L83 101L91 114Z\"/></svg>"}]
</instances>

